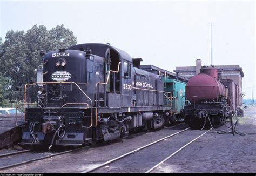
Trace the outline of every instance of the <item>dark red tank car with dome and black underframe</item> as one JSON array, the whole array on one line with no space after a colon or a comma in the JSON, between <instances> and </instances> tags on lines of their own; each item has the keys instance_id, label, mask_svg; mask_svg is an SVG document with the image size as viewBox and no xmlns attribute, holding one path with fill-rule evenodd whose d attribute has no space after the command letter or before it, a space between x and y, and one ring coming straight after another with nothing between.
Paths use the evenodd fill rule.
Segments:
<instances>
[{"instance_id":1,"label":"dark red tank car with dome and black underframe","mask_svg":"<svg viewBox=\"0 0 256 176\"><path fill-rule=\"evenodd\" d=\"M203 67L198 75L188 80L186 98L191 104L184 106L183 118L191 128L213 127L232 116L228 99L228 86L218 79L213 66Z\"/></svg>"}]
</instances>

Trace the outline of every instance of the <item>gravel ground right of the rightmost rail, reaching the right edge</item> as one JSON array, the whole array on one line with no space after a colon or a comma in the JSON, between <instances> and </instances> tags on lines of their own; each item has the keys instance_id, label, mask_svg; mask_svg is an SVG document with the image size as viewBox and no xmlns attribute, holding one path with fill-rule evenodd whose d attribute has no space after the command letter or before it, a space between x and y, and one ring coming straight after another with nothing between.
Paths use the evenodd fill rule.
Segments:
<instances>
[{"instance_id":1,"label":"gravel ground right of the rightmost rail, reaching the right edge","mask_svg":"<svg viewBox=\"0 0 256 176\"><path fill-rule=\"evenodd\" d=\"M256 107L245 109L245 117L238 120L237 132L247 135L208 133L154 172L255 173Z\"/></svg>"}]
</instances>

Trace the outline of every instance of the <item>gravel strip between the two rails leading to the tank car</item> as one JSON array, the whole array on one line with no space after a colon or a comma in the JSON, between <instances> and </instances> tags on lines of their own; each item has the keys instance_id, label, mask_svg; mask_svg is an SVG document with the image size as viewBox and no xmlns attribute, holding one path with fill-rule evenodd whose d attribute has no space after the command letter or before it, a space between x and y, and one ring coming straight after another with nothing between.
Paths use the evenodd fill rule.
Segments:
<instances>
[{"instance_id":1,"label":"gravel strip between the two rails leading to the tank car","mask_svg":"<svg viewBox=\"0 0 256 176\"><path fill-rule=\"evenodd\" d=\"M189 141L203 134L203 131L187 130L171 138L160 141L157 144L146 147L134 154L125 158L119 159L114 163L106 165L94 172L146 172L159 161L164 160L171 153L177 151L180 147L187 144Z\"/></svg>"}]
</instances>

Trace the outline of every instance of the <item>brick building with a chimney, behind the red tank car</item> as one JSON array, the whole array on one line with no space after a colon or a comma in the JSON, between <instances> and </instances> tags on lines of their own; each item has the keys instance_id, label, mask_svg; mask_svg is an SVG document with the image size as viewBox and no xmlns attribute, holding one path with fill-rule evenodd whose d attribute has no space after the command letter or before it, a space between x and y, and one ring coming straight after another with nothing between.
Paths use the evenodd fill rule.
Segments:
<instances>
[{"instance_id":1,"label":"brick building with a chimney, behind the red tank car","mask_svg":"<svg viewBox=\"0 0 256 176\"><path fill-rule=\"evenodd\" d=\"M177 66L176 72L179 76L183 76L186 78L190 78L194 75L200 73L201 59L196 60L196 66ZM242 106L242 97L244 93L242 93L242 77L244 77L244 72L239 65L214 65L216 69L218 69L218 77L220 79L232 79L235 84L238 86L238 105Z\"/></svg>"}]
</instances>

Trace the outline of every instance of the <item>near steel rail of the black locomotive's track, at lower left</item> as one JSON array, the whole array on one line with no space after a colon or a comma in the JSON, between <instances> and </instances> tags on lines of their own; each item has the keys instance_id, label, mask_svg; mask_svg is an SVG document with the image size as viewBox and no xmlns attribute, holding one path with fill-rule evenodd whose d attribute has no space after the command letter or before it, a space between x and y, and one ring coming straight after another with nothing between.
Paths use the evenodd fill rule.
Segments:
<instances>
[{"instance_id":1,"label":"near steel rail of the black locomotive's track, at lower left","mask_svg":"<svg viewBox=\"0 0 256 176\"><path fill-rule=\"evenodd\" d=\"M6 168L15 167L15 166L26 164L26 163L32 163L33 161L38 161L38 160L42 160L42 159L46 159L46 158L50 158L50 157L55 157L55 156L60 155L60 154L66 154L66 153L70 153L70 152L73 152L73 151L82 150L82 149L88 148L88 147L91 147L91 146L80 147L80 148L76 148L76 149L73 149L73 150L68 150L68 151L59 152L59 153L55 153L55 154L50 154L50 155L47 155L45 157L35 158L35 159L31 159L31 160L22 161L20 163L15 163L15 164L7 165L7 166L2 166L2 167L0 167L0 170L4 170Z\"/></svg>"}]
</instances>

